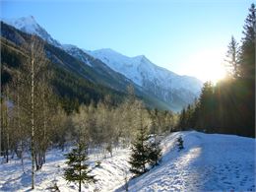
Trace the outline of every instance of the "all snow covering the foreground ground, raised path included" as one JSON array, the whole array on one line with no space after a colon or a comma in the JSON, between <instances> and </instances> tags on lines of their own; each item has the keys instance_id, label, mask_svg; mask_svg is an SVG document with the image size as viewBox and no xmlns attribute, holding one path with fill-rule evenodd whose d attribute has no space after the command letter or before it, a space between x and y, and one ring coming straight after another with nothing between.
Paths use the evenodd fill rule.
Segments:
<instances>
[{"instance_id":1,"label":"all snow covering the foreground ground, raised path included","mask_svg":"<svg viewBox=\"0 0 256 192\"><path fill-rule=\"evenodd\" d=\"M182 136L184 150L178 152L176 139ZM162 139L160 165L131 179L129 191L255 191L255 139L195 131L175 132ZM46 163L36 171L35 190L50 191L56 182L60 191L77 191L78 185L63 178L66 166L59 150L47 153ZM129 150L117 148L113 157L92 152L90 164L96 184L83 185L83 191L124 191ZM96 161L100 166L96 167ZM20 160L0 164L0 191L28 191L31 162L24 174Z\"/></svg>"}]
</instances>

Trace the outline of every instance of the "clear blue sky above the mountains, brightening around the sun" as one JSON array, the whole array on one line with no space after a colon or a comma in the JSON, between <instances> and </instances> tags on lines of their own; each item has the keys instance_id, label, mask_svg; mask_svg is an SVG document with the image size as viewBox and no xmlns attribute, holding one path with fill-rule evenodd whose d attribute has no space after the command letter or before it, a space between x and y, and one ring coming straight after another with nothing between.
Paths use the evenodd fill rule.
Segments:
<instances>
[{"instance_id":1,"label":"clear blue sky above the mountains, brightening around the sun","mask_svg":"<svg viewBox=\"0 0 256 192\"><path fill-rule=\"evenodd\" d=\"M231 35L237 40L241 38L251 3L247 0L9 0L1 1L1 17L32 15L61 43L89 50L112 48L128 56L144 54L157 65L205 81L213 73L221 73L226 45Z\"/></svg>"}]
</instances>

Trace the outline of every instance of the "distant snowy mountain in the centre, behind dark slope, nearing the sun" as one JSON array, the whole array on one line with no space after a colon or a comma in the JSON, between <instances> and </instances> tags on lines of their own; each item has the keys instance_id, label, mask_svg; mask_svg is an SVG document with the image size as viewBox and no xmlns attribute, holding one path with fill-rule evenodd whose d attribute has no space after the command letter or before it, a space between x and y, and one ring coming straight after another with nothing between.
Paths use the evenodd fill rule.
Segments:
<instances>
[{"instance_id":1,"label":"distant snowy mountain in the centre, behind dark slope, nearing the sun","mask_svg":"<svg viewBox=\"0 0 256 192\"><path fill-rule=\"evenodd\" d=\"M161 68L144 55L128 57L109 48L87 52L164 101L174 100L178 95L191 102L203 86L198 79Z\"/></svg>"}]
</instances>

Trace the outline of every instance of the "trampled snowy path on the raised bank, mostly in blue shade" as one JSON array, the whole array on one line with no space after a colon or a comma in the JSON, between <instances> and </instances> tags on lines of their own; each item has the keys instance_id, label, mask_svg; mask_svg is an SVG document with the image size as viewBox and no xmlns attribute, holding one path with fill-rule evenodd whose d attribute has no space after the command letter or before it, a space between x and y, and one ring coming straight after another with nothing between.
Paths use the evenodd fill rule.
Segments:
<instances>
[{"instance_id":1,"label":"trampled snowy path on the raised bank, mostly in blue shade","mask_svg":"<svg viewBox=\"0 0 256 192\"><path fill-rule=\"evenodd\" d=\"M130 191L255 191L254 139L198 132L181 135L185 150L178 153L169 137L163 146L171 145L165 146L169 151L160 166L130 181Z\"/></svg>"}]
</instances>

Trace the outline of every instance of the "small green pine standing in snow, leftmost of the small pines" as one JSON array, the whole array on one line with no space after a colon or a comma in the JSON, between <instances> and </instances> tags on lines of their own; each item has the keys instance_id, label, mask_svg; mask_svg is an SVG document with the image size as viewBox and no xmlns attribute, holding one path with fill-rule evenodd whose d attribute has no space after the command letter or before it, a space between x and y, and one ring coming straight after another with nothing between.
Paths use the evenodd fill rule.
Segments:
<instances>
[{"instance_id":1,"label":"small green pine standing in snow, leftmost of the small pines","mask_svg":"<svg viewBox=\"0 0 256 192\"><path fill-rule=\"evenodd\" d=\"M77 148L73 149L71 153L65 155L68 168L65 169L64 177L69 182L79 182L79 191L81 191L81 184L87 182L96 182L94 175L89 175L92 170L89 170L86 146L78 144Z\"/></svg>"}]
</instances>

